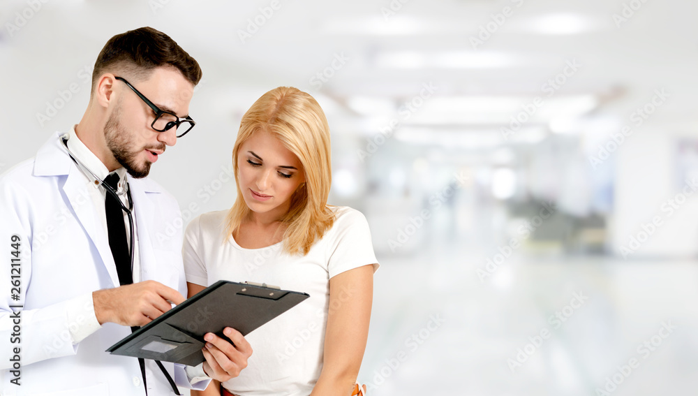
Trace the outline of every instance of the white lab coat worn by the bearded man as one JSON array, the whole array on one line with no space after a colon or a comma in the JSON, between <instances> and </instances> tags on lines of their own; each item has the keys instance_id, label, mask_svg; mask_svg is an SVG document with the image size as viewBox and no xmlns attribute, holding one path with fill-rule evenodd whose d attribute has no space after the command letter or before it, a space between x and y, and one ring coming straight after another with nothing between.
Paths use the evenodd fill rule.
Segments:
<instances>
[{"instance_id":1,"label":"white lab coat worn by the bearded man","mask_svg":"<svg viewBox=\"0 0 698 396\"><path fill-rule=\"evenodd\" d=\"M68 300L119 286L101 219L87 196L93 189L67 154L60 135L0 177L0 395L144 395L135 358L105 350L131 333L106 323L73 346ZM177 201L155 182L129 179L138 233L141 279L161 282L186 296L181 259L181 213ZM10 238L21 238L21 344L12 344ZM20 300L20 302L22 302ZM15 309L16 310L16 309ZM16 329L14 329L16 330ZM20 346L21 386L10 383L13 348ZM155 365L146 360L149 396L173 395ZM163 362L179 386L183 367Z\"/></svg>"}]
</instances>

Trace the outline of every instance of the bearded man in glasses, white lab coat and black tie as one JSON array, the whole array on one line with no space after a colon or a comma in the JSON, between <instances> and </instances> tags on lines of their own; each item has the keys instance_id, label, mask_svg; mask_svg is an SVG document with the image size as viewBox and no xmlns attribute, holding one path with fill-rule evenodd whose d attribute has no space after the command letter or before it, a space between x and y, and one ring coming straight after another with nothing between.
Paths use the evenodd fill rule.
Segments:
<instances>
[{"instance_id":1,"label":"bearded man in glasses, white lab coat and black tie","mask_svg":"<svg viewBox=\"0 0 698 396\"><path fill-rule=\"evenodd\" d=\"M160 31L114 36L80 123L0 177L0 395L179 395L246 367L230 328L198 367L105 352L184 301L181 229L161 237L179 207L147 175L195 125L200 78Z\"/></svg>"}]
</instances>

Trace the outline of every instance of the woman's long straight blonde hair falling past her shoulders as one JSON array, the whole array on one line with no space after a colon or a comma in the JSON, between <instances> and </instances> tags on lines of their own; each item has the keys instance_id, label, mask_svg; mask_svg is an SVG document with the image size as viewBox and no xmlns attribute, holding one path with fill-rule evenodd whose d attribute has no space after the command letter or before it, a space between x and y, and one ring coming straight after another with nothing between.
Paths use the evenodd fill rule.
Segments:
<instances>
[{"instance_id":1,"label":"woman's long straight blonde hair falling past her shoulders","mask_svg":"<svg viewBox=\"0 0 698 396\"><path fill-rule=\"evenodd\" d=\"M303 166L305 184L291 196L290 208L281 221L288 226L283 234L283 249L289 254L308 254L313 243L334 223L334 213L327 205L332 185L332 154L325 112L313 96L297 88L272 89L242 116L232 148L237 199L228 212L226 233L228 237L235 235L242 221L251 214L240 190L237 154L242 144L260 131L278 138Z\"/></svg>"}]
</instances>

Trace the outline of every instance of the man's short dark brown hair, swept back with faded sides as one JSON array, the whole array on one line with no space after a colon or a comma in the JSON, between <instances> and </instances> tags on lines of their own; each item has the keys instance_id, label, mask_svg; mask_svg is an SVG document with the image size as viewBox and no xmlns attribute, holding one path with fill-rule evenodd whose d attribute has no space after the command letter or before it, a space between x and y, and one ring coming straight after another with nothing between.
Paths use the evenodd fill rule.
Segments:
<instances>
[{"instance_id":1,"label":"man's short dark brown hair, swept back with faded sides","mask_svg":"<svg viewBox=\"0 0 698 396\"><path fill-rule=\"evenodd\" d=\"M154 68L161 66L177 68L193 85L201 80L198 62L167 34L151 27L117 34L107 41L94 63L92 90L98 78L107 71L139 80L147 78Z\"/></svg>"}]
</instances>

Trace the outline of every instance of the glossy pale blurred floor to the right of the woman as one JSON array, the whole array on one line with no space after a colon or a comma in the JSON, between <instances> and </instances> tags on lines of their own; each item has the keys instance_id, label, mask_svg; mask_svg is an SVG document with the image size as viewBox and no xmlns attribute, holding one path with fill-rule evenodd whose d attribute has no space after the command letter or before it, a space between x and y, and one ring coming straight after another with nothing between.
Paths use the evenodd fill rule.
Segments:
<instances>
[{"instance_id":1,"label":"glossy pale blurred floor to the right of the woman","mask_svg":"<svg viewBox=\"0 0 698 396\"><path fill-rule=\"evenodd\" d=\"M369 394L695 394L695 261L480 253L379 258Z\"/></svg>"}]
</instances>

